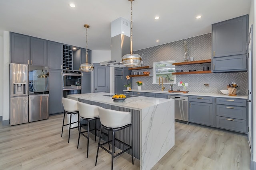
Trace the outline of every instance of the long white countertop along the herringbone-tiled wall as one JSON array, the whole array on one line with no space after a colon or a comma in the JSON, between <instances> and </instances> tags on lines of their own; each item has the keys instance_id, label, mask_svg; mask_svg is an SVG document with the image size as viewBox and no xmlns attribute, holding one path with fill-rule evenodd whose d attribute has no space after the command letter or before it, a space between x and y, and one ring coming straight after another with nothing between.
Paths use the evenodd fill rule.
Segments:
<instances>
[{"instance_id":1,"label":"long white countertop along the herringbone-tiled wall","mask_svg":"<svg viewBox=\"0 0 256 170\"><path fill-rule=\"evenodd\" d=\"M209 97L221 97L221 98L237 98L237 99L247 99L247 96L228 96L225 94L218 93L200 93L200 92L188 92L188 93L170 93L168 91L157 91L157 90L123 90L127 92L146 92L146 93L161 93L161 94L170 94L170 95L185 95L185 96L209 96Z\"/></svg>"}]
</instances>

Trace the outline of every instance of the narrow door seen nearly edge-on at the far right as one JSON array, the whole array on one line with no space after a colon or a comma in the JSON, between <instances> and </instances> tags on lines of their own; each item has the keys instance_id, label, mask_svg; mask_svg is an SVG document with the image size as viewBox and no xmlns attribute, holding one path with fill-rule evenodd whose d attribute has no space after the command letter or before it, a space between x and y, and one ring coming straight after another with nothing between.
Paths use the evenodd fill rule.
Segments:
<instances>
[{"instance_id":1,"label":"narrow door seen nearly edge-on at the far right","mask_svg":"<svg viewBox=\"0 0 256 170\"><path fill-rule=\"evenodd\" d=\"M252 92L252 83L253 83L253 25L250 27L250 32L248 35L248 127L249 127L249 132L248 132L248 141L251 147L251 152L252 152L252 144L253 144L253 137L252 137L252 129L253 129L253 107L252 107L252 102L253 102L253 92Z\"/></svg>"}]
</instances>

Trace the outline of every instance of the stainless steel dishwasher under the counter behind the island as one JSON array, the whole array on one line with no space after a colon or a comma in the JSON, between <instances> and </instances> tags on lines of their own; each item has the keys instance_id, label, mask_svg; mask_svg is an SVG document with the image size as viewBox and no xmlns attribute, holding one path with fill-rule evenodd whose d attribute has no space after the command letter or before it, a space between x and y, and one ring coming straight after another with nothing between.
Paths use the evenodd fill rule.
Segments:
<instances>
[{"instance_id":1,"label":"stainless steel dishwasher under the counter behind the island","mask_svg":"<svg viewBox=\"0 0 256 170\"><path fill-rule=\"evenodd\" d=\"M175 121L188 124L188 97L186 96L168 96L168 99L174 99Z\"/></svg>"}]
</instances>

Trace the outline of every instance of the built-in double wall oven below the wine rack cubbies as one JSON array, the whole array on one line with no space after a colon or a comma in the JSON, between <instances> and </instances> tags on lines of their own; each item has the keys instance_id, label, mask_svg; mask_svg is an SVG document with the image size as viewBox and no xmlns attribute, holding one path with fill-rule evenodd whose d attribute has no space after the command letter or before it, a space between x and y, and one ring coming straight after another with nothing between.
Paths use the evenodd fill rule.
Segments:
<instances>
[{"instance_id":1,"label":"built-in double wall oven below the wine rack cubbies","mask_svg":"<svg viewBox=\"0 0 256 170\"><path fill-rule=\"evenodd\" d=\"M81 93L82 72L79 70L62 71L62 92L63 97L68 98L68 94Z\"/></svg>"}]
</instances>

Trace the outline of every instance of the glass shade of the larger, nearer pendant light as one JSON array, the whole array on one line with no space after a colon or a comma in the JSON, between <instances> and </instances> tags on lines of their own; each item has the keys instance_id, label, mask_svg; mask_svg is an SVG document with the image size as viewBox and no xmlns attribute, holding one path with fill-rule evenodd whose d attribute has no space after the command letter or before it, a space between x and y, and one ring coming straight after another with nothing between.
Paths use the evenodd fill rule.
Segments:
<instances>
[{"instance_id":1,"label":"glass shade of the larger, nearer pendant light","mask_svg":"<svg viewBox=\"0 0 256 170\"><path fill-rule=\"evenodd\" d=\"M126 67L138 66L141 61L142 59L138 54L126 54L122 57L122 64Z\"/></svg>"}]
</instances>

